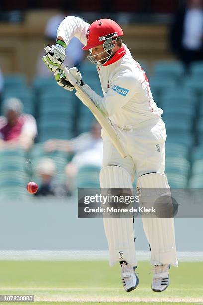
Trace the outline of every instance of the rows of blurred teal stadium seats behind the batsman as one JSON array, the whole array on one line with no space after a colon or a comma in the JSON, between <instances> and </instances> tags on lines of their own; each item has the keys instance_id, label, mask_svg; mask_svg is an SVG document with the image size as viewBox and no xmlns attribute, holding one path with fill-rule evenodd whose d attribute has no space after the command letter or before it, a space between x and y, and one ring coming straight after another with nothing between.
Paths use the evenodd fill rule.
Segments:
<instances>
[{"instance_id":1,"label":"rows of blurred teal stadium seats behind the batsman","mask_svg":"<svg viewBox=\"0 0 203 305\"><path fill-rule=\"evenodd\" d=\"M152 93L155 93L156 102L164 111L167 128L166 174L173 188L202 187L203 184L203 87L197 91L196 83L203 75L200 67L203 65L198 68L192 66L191 74L185 76L181 63L159 61L155 63L150 77ZM81 72L84 80L88 80L90 86L102 95L95 66L84 62ZM60 88L52 78L36 78L28 87L25 76L7 76L2 97L14 95L22 99L27 112L35 116L38 143L27 154L23 151L0 152L1 196L9 186L12 189L10 195L23 193L27 196L23 186L28 177L37 180L34 167L41 157L54 159L58 179L64 181L64 168L71 156L59 151L45 152L43 142L50 138L70 139L88 131L93 118L75 95ZM77 187L99 187L99 170L95 166L81 168L76 177Z\"/></svg>"}]
</instances>

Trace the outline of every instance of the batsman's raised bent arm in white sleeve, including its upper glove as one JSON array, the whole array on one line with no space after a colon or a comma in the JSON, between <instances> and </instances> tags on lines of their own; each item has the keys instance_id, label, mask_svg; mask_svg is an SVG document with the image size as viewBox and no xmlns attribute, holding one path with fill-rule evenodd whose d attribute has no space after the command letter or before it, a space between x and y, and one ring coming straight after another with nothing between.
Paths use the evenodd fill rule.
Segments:
<instances>
[{"instance_id":1,"label":"batsman's raised bent arm in white sleeve, including its upper glove","mask_svg":"<svg viewBox=\"0 0 203 305\"><path fill-rule=\"evenodd\" d=\"M43 56L43 61L50 69L55 72L63 63L66 56L66 47L73 37L77 37L84 45L86 44L86 31L89 23L83 19L68 16L66 17L57 30L56 44Z\"/></svg>"}]
</instances>

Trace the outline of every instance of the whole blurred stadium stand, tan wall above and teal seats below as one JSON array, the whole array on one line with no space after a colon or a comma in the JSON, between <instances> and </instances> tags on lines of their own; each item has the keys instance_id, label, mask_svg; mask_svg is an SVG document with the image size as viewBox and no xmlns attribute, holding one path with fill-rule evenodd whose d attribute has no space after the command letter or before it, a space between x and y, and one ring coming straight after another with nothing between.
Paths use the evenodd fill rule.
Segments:
<instances>
[{"instance_id":1,"label":"whole blurred stadium stand, tan wall above and teal seats below","mask_svg":"<svg viewBox=\"0 0 203 305\"><path fill-rule=\"evenodd\" d=\"M37 179L34 169L41 157L54 159L58 179L63 181L64 167L71 156L59 151L45 152L43 142L50 138L71 139L91 126L92 114L74 94L60 88L53 77L35 77L37 55L46 46L46 22L62 2L49 1L51 10L46 10L45 0L0 4L3 21L0 66L5 74L1 101L13 96L20 98L25 112L32 114L38 125L38 137L31 151L0 150L0 197L7 193L30 196L24 190L25 185ZM109 17L105 14L110 12L111 18L123 23L123 41L149 76L154 99L164 111L166 174L170 186L203 187L203 63L192 64L186 72L168 47L168 24L180 1L167 0L163 5L160 0L127 0L124 6L123 1L116 1L116 5L115 1L106 0L84 3L73 3L67 9L86 16L89 22ZM15 10L18 13L14 14ZM102 95L95 66L84 61L80 70L84 81ZM99 168L94 166L81 168L76 177L77 186L98 187L98 172Z\"/></svg>"}]
</instances>

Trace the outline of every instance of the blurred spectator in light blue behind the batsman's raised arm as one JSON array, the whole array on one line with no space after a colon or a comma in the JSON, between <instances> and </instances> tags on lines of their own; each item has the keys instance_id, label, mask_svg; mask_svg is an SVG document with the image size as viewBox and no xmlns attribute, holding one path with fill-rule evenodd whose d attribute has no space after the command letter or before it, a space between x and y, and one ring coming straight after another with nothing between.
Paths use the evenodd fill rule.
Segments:
<instances>
[{"instance_id":1,"label":"blurred spectator in light blue behind the batsman's raised arm","mask_svg":"<svg viewBox=\"0 0 203 305\"><path fill-rule=\"evenodd\" d=\"M67 4L66 4L67 5ZM67 17L69 14L66 11L66 6L61 8L59 13L53 17L51 17L47 21L46 29L45 29L45 38L47 39L47 44L49 46L54 45L56 43L57 37L57 29L60 23ZM83 60L84 52L82 50L82 43L76 37L73 37L66 48L66 58L64 60L64 64L71 67L79 67L80 62ZM45 55L45 51L43 51L37 61L37 75L40 76L51 76L52 72L47 69L46 65L42 62L42 57Z\"/></svg>"}]
</instances>

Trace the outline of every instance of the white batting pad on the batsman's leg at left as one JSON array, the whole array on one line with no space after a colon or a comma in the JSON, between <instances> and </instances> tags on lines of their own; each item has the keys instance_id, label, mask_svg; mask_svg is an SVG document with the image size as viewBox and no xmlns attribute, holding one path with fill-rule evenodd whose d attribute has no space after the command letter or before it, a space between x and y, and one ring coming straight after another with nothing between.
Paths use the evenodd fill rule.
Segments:
<instances>
[{"instance_id":1,"label":"white batting pad on the batsman's leg at left","mask_svg":"<svg viewBox=\"0 0 203 305\"><path fill-rule=\"evenodd\" d=\"M130 174L122 167L107 166L100 171L101 188L132 189ZM137 266L132 218L104 218L104 230L109 247L109 264L125 260Z\"/></svg>"}]
</instances>

